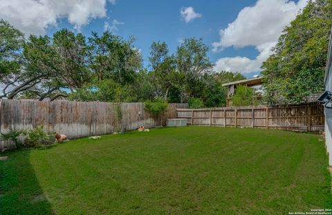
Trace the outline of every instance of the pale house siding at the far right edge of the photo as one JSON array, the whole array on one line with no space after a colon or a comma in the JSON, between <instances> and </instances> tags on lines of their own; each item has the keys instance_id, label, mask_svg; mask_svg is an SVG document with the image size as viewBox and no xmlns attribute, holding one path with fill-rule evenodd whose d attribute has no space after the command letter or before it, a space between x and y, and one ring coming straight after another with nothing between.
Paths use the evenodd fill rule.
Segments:
<instances>
[{"instance_id":1,"label":"pale house siding at the far right edge of the photo","mask_svg":"<svg viewBox=\"0 0 332 215\"><path fill-rule=\"evenodd\" d=\"M331 62L330 62L331 64ZM329 72L326 73L325 88L332 92L332 67L329 67ZM325 108L325 137L326 150L329 153L329 165L332 165L332 109Z\"/></svg>"}]
</instances>

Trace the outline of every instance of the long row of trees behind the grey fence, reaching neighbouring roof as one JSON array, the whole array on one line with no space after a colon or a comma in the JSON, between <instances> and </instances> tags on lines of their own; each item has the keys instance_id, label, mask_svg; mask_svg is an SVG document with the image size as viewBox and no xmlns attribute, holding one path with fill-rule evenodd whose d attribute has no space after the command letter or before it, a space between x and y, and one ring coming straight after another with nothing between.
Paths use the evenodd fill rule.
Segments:
<instances>
[{"instance_id":1,"label":"long row of trees behind the grey fence, reaching neighbouring roof","mask_svg":"<svg viewBox=\"0 0 332 215\"><path fill-rule=\"evenodd\" d=\"M4 86L0 99L137 102L160 97L185 103L194 97L207 107L221 107L225 105L222 83L244 78L239 73L212 72L203 39L185 39L174 53L169 53L165 42L152 43L151 70L142 67L133 39L109 31L92 32L86 38L64 28L52 37L24 39L1 20L0 45Z\"/></svg>"}]
</instances>

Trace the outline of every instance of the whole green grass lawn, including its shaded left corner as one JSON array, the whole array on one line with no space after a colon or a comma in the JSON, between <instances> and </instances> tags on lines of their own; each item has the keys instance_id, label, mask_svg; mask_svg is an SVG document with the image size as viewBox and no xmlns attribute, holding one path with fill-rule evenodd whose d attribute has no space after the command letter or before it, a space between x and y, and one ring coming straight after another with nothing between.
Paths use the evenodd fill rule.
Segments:
<instances>
[{"instance_id":1,"label":"whole green grass lawn, including its shaded left corner","mask_svg":"<svg viewBox=\"0 0 332 215\"><path fill-rule=\"evenodd\" d=\"M279 130L181 127L6 152L0 214L287 214L331 208L319 139Z\"/></svg>"}]
</instances>

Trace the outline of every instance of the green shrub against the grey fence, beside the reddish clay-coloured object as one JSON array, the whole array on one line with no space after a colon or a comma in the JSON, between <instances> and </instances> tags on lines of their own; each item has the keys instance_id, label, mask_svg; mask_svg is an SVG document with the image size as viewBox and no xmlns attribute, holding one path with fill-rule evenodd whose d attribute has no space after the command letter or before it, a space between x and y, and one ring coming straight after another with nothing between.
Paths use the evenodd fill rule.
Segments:
<instances>
[{"instance_id":1,"label":"green shrub against the grey fence, beside the reddish clay-coloured object","mask_svg":"<svg viewBox=\"0 0 332 215\"><path fill-rule=\"evenodd\" d=\"M25 142L27 147L40 147L42 145L50 145L54 143L53 134L46 134L42 125L28 130L26 134L28 136Z\"/></svg>"}]
</instances>

